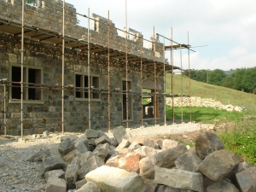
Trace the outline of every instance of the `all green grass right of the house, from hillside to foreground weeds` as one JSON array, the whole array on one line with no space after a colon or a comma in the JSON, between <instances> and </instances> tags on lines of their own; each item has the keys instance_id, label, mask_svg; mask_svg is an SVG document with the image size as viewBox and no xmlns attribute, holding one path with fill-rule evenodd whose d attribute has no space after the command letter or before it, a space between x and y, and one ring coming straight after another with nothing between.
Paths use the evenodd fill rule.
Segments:
<instances>
[{"instance_id":1,"label":"all green grass right of the house, from hillside to foreground weeds","mask_svg":"<svg viewBox=\"0 0 256 192\"><path fill-rule=\"evenodd\" d=\"M183 87L181 86L183 84ZM189 85L190 84L190 85ZM190 87L190 91L189 91ZM171 74L166 75L166 92L172 92ZM174 108L174 118L191 120L206 124L233 123L233 127L224 126L216 131L226 149L256 166L256 96L238 90L205 84L180 75L173 76L173 94L212 98L223 104L231 104L245 108L243 112L227 112L214 108ZM249 116L249 119L245 119ZM166 117L172 119L172 107L166 106ZM216 121L217 120L217 121Z\"/></svg>"}]
</instances>

